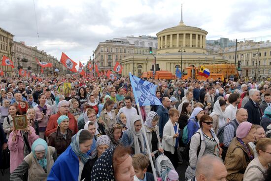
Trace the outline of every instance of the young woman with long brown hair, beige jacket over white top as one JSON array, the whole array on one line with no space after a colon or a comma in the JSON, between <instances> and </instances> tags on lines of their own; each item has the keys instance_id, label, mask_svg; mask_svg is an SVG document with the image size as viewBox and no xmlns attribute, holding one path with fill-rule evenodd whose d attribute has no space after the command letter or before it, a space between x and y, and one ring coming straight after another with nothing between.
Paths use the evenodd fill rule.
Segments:
<instances>
[{"instance_id":1,"label":"young woman with long brown hair, beige jacket over white top","mask_svg":"<svg viewBox=\"0 0 271 181\"><path fill-rule=\"evenodd\" d=\"M99 117L99 122L104 125L105 130L107 130L110 124L116 123L116 114L114 110L112 110L114 104L115 103L112 100L106 101Z\"/></svg>"}]
</instances>

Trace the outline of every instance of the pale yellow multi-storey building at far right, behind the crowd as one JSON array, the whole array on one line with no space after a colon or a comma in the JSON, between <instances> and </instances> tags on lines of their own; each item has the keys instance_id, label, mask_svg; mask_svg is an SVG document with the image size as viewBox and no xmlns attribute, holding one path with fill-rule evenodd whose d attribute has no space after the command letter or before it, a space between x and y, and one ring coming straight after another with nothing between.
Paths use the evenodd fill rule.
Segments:
<instances>
[{"instance_id":1,"label":"pale yellow multi-storey building at far right, behind the crowd","mask_svg":"<svg viewBox=\"0 0 271 181\"><path fill-rule=\"evenodd\" d=\"M235 47L216 53L235 63ZM271 77L271 42L245 41L237 43L237 63L241 61L241 77L261 80Z\"/></svg>"}]
</instances>

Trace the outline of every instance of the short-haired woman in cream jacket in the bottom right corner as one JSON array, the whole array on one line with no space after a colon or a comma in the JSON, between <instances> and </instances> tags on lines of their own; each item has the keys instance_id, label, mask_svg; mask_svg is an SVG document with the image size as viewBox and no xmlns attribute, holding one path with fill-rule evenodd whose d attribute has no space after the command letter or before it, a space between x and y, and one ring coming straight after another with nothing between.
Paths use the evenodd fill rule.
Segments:
<instances>
[{"instance_id":1,"label":"short-haired woman in cream jacket in the bottom right corner","mask_svg":"<svg viewBox=\"0 0 271 181\"><path fill-rule=\"evenodd\" d=\"M264 173L271 163L271 139L263 138L257 142L258 156L247 166L243 181L264 181Z\"/></svg>"}]
</instances>

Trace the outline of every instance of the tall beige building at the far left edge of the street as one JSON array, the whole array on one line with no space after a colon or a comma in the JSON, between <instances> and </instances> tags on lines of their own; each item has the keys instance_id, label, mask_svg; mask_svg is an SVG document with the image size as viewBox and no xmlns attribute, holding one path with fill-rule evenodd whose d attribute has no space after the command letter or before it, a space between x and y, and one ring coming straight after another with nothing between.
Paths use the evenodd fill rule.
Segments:
<instances>
[{"instance_id":1,"label":"tall beige building at the far left edge of the street","mask_svg":"<svg viewBox=\"0 0 271 181\"><path fill-rule=\"evenodd\" d=\"M2 66L3 56L8 57L11 61L13 60L14 51L13 51L13 36L11 33L0 28L0 69L4 72L4 76L10 77L15 75L13 69L10 66Z\"/></svg>"}]
</instances>

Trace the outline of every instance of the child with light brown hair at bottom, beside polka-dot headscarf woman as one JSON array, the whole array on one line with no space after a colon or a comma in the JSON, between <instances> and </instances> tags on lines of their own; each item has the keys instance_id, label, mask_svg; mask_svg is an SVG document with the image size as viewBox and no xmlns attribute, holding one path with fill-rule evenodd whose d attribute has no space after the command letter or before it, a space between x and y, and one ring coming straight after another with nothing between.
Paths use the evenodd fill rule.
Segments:
<instances>
[{"instance_id":1,"label":"child with light brown hair at bottom, beside polka-dot headscarf woman","mask_svg":"<svg viewBox=\"0 0 271 181\"><path fill-rule=\"evenodd\" d=\"M133 167L139 181L154 181L153 174L147 172L149 158L140 153L133 156Z\"/></svg>"}]
</instances>

